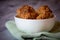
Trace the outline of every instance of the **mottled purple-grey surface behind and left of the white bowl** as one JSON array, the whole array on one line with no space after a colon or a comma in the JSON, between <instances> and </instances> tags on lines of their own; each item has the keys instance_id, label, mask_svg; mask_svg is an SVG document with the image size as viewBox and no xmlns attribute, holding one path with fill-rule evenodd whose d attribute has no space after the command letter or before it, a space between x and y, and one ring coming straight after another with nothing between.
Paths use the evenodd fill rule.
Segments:
<instances>
[{"instance_id":1,"label":"mottled purple-grey surface behind and left of the white bowl","mask_svg":"<svg viewBox=\"0 0 60 40\"><path fill-rule=\"evenodd\" d=\"M41 5L48 5L53 14L56 15L56 20L60 21L60 1L58 0L6 0L0 1L0 40L17 40L5 27L6 21L14 20L16 9L24 4L32 5L35 9Z\"/></svg>"}]
</instances>

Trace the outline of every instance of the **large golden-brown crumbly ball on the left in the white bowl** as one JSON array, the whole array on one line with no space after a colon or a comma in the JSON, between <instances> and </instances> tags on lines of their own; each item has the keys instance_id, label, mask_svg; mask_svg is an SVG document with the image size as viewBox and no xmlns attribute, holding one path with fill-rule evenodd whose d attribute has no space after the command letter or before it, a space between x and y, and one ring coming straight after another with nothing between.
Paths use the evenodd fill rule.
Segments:
<instances>
[{"instance_id":1,"label":"large golden-brown crumbly ball on the left in the white bowl","mask_svg":"<svg viewBox=\"0 0 60 40\"><path fill-rule=\"evenodd\" d=\"M21 8L17 9L17 17L24 19L35 19L38 14L35 10L28 5L24 5Z\"/></svg>"}]
</instances>

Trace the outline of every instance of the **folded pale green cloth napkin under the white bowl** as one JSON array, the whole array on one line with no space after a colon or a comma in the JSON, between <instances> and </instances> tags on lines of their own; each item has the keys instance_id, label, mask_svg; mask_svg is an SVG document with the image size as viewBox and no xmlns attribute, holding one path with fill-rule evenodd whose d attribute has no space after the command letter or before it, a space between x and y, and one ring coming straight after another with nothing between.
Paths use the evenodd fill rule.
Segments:
<instances>
[{"instance_id":1,"label":"folded pale green cloth napkin under the white bowl","mask_svg":"<svg viewBox=\"0 0 60 40\"><path fill-rule=\"evenodd\" d=\"M40 32L34 34L26 34L25 32L20 31L14 21L8 21L5 24L9 32L18 40L60 40L60 32L58 33L49 33L49 32Z\"/></svg>"}]
</instances>

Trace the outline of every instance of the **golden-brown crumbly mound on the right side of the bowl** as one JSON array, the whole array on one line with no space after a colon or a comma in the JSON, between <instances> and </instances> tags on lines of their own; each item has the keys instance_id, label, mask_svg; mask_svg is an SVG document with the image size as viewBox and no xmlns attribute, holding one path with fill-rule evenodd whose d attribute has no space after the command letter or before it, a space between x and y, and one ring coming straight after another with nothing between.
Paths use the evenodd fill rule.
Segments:
<instances>
[{"instance_id":1,"label":"golden-brown crumbly mound on the right side of the bowl","mask_svg":"<svg viewBox=\"0 0 60 40\"><path fill-rule=\"evenodd\" d=\"M37 12L39 16L37 16L36 19L48 19L53 17L52 11L47 5L39 7Z\"/></svg>"}]
</instances>

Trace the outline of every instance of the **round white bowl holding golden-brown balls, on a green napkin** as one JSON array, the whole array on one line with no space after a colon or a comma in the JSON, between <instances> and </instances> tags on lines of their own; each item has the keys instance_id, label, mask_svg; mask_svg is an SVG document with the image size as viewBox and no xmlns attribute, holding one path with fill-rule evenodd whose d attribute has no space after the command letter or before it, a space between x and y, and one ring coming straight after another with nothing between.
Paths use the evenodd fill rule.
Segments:
<instances>
[{"instance_id":1,"label":"round white bowl holding golden-brown balls, on a green napkin","mask_svg":"<svg viewBox=\"0 0 60 40\"><path fill-rule=\"evenodd\" d=\"M55 17L49 19L22 19L14 17L19 30L26 33L38 33L50 31L55 24Z\"/></svg>"}]
</instances>

